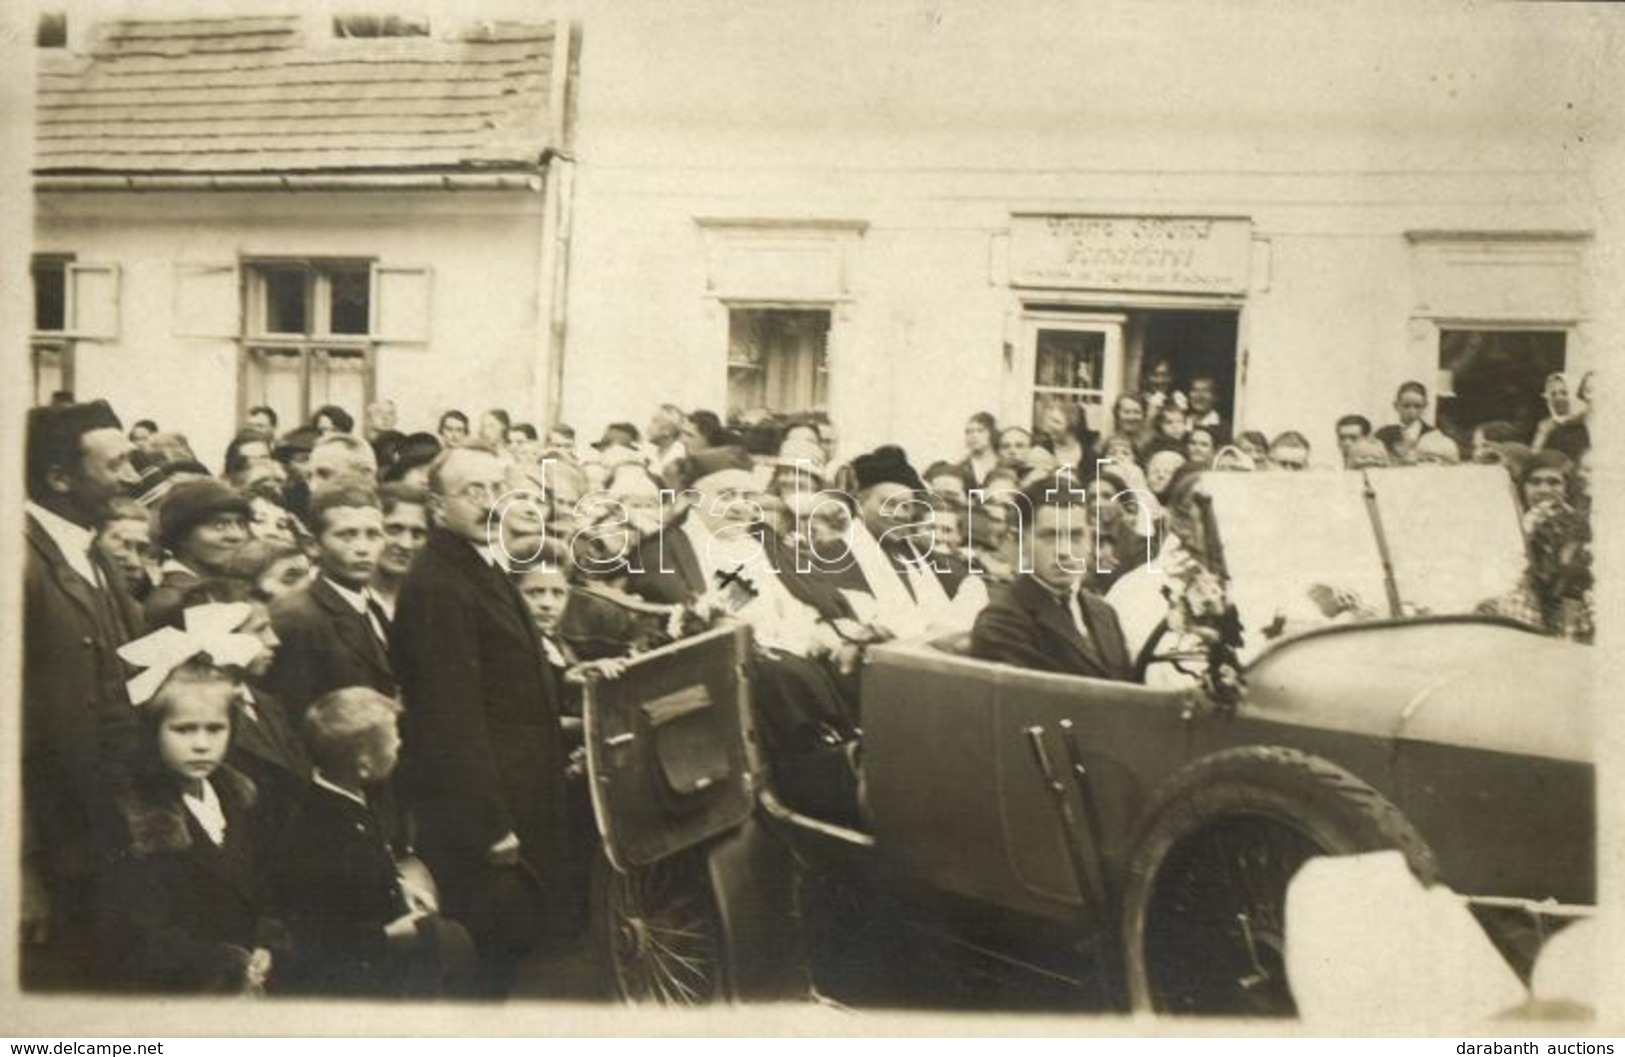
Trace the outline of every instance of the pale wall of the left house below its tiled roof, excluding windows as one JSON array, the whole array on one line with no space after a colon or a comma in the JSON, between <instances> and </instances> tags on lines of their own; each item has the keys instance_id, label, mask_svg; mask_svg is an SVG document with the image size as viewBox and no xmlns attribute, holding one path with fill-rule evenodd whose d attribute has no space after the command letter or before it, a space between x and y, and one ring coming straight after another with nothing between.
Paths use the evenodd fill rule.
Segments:
<instances>
[{"instance_id":1,"label":"pale wall of the left house below its tiled roof, excluding windows","mask_svg":"<svg viewBox=\"0 0 1625 1057\"><path fill-rule=\"evenodd\" d=\"M34 252L120 270L115 337L76 345L78 395L185 433L210 465L237 426L242 294L229 273L187 286L195 267L346 257L426 268L426 340L377 348L377 395L395 400L401 429L432 431L450 407L533 421L546 407L540 192L60 192L36 203ZM346 410L359 423L362 408Z\"/></svg>"}]
</instances>

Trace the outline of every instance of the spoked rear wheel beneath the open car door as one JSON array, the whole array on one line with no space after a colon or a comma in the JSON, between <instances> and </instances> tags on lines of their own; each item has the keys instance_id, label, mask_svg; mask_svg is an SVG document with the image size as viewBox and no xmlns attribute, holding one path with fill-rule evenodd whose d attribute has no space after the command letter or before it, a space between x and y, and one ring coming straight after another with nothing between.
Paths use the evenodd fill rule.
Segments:
<instances>
[{"instance_id":1,"label":"spoked rear wheel beneath the open car door","mask_svg":"<svg viewBox=\"0 0 1625 1057\"><path fill-rule=\"evenodd\" d=\"M725 997L722 919L697 855L621 873L600 857L595 929L626 1002L705 1005Z\"/></svg>"}]
</instances>

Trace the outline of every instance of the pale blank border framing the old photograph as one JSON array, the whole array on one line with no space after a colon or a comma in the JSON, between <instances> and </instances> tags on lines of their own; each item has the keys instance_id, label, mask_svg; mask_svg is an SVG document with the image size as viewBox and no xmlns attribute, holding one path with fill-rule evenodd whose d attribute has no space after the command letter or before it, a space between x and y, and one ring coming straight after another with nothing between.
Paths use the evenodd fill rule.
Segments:
<instances>
[{"instance_id":1,"label":"pale blank border framing the old photograph","mask_svg":"<svg viewBox=\"0 0 1625 1057\"><path fill-rule=\"evenodd\" d=\"M682 0L671 0L681 3ZM790 0L772 0L786 13ZM817 0L800 0L816 3ZM951 8L954 0L878 0L910 10ZM574 5L538 5L538 16L569 18L572 15L604 16L637 21L655 0L606 0ZM422 0L413 8L432 7ZM18 761L21 758L21 615L23 615L23 433L31 403L26 337L29 332L29 247L32 239L32 96L34 62L32 24L41 8L63 5L8 3L0 7L0 47L3 47L5 143L0 145L0 202L3 202L3 257L0 257L0 328L6 335L8 355L0 358L0 423L3 423L3 457L0 470L0 509L5 533L0 553L0 1036L18 1037L169 1037L169 1036L1316 1036L1316 1024L1274 1021L1193 1021L1102 1015L944 1015L934 1011L843 1011L811 1003L793 1007L730 1007L702 1011L629 1010L616 1005L572 1005L510 1000L500 1005L457 1003L348 1003L271 998L260 1003L224 1002L218 998L114 998L99 995L37 995L18 989L18 899L21 797ZM96 18L117 15L143 16L141 0L84 5ZM273 7L255 3L255 10ZM299 10L301 0L288 0L288 10ZM332 7L332 5L328 5ZM377 5L356 5L361 8ZM466 18L478 0L442 3ZM858 11L861 5L852 5ZM1079 3L1081 13L1092 5ZM1118 7L1121 5L1110 5ZM1268 18L1279 5L1237 3L1233 16ZM1326 5L1332 10L1331 5ZM1474 18L1498 5L1450 3L1422 5L1435 16L1456 18L1471 33ZM1540 7L1540 5L1536 5ZM1566 5L1560 5L1566 7ZM174 8L174 5L169 5ZM1159 8L1170 20L1180 5ZM167 10L167 8L166 8ZM210 11L224 11L213 5ZM1011 0L1011 18L1058 10L1055 3ZM1415 8L1404 3L1337 5L1363 18L1402 23ZM1440 1023L1430 1016L1425 1000L1417 1008L1373 1010L1358 1034L1399 1036L1612 1036L1625 1034L1625 550L1617 527L1625 524L1625 10L1596 5L1591 11L1597 33L1606 36L1599 49L1607 55L1604 68L1594 72L1596 98L1591 107L1589 135L1576 150L1589 151L1591 184L1596 192L1596 239L1591 249L1589 276L1594 320L1594 355L1602 382L1601 424L1594 426L1597 459L1596 520L1597 530L1597 639L1594 716L1597 745L1597 893L1602 943L1597 951L1597 976L1606 1002L1589 1023L1571 1021L1497 1021ZM1539 21L1539 13L1531 15ZM590 33L590 24L588 24ZM1261 33L1268 29L1261 28ZM905 47L905 42L899 42ZM590 75L585 72L583 76Z\"/></svg>"}]
</instances>

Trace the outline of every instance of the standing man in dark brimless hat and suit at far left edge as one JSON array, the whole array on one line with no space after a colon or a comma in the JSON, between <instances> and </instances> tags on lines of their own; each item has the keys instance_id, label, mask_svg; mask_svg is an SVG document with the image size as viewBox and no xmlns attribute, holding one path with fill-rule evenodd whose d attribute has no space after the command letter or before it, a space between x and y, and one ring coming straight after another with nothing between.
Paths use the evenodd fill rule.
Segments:
<instances>
[{"instance_id":1,"label":"standing man in dark brimless hat and suit at far left edge","mask_svg":"<svg viewBox=\"0 0 1625 1057\"><path fill-rule=\"evenodd\" d=\"M106 402L28 416L23 587L23 985L83 987L98 969L94 805L135 711L115 650L141 634L94 525L135 486L133 447Z\"/></svg>"}]
</instances>

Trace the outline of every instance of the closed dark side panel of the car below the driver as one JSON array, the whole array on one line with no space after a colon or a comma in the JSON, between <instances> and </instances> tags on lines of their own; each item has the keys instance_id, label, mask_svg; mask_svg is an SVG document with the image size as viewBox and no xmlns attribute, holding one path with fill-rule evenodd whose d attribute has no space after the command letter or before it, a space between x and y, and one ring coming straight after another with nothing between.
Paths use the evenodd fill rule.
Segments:
<instances>
[{"instance_id":1,"label":"closed dark side panel of the car below the driver","mask_svg":"<svg viewBox=\"0 0 1625 1057\"><path fill-rule=\"evenodd\" d=\"M1186 759L1186 698L930 646L874 650L864 784L882 867L902 883L1069 920L1081 896L1027 729L1045 729L1064 769L1061 720L1074 725L1112 855L1154 784ZM1081 818L1071 784L1068 797Z\"/></svg>"}]
</instances>

